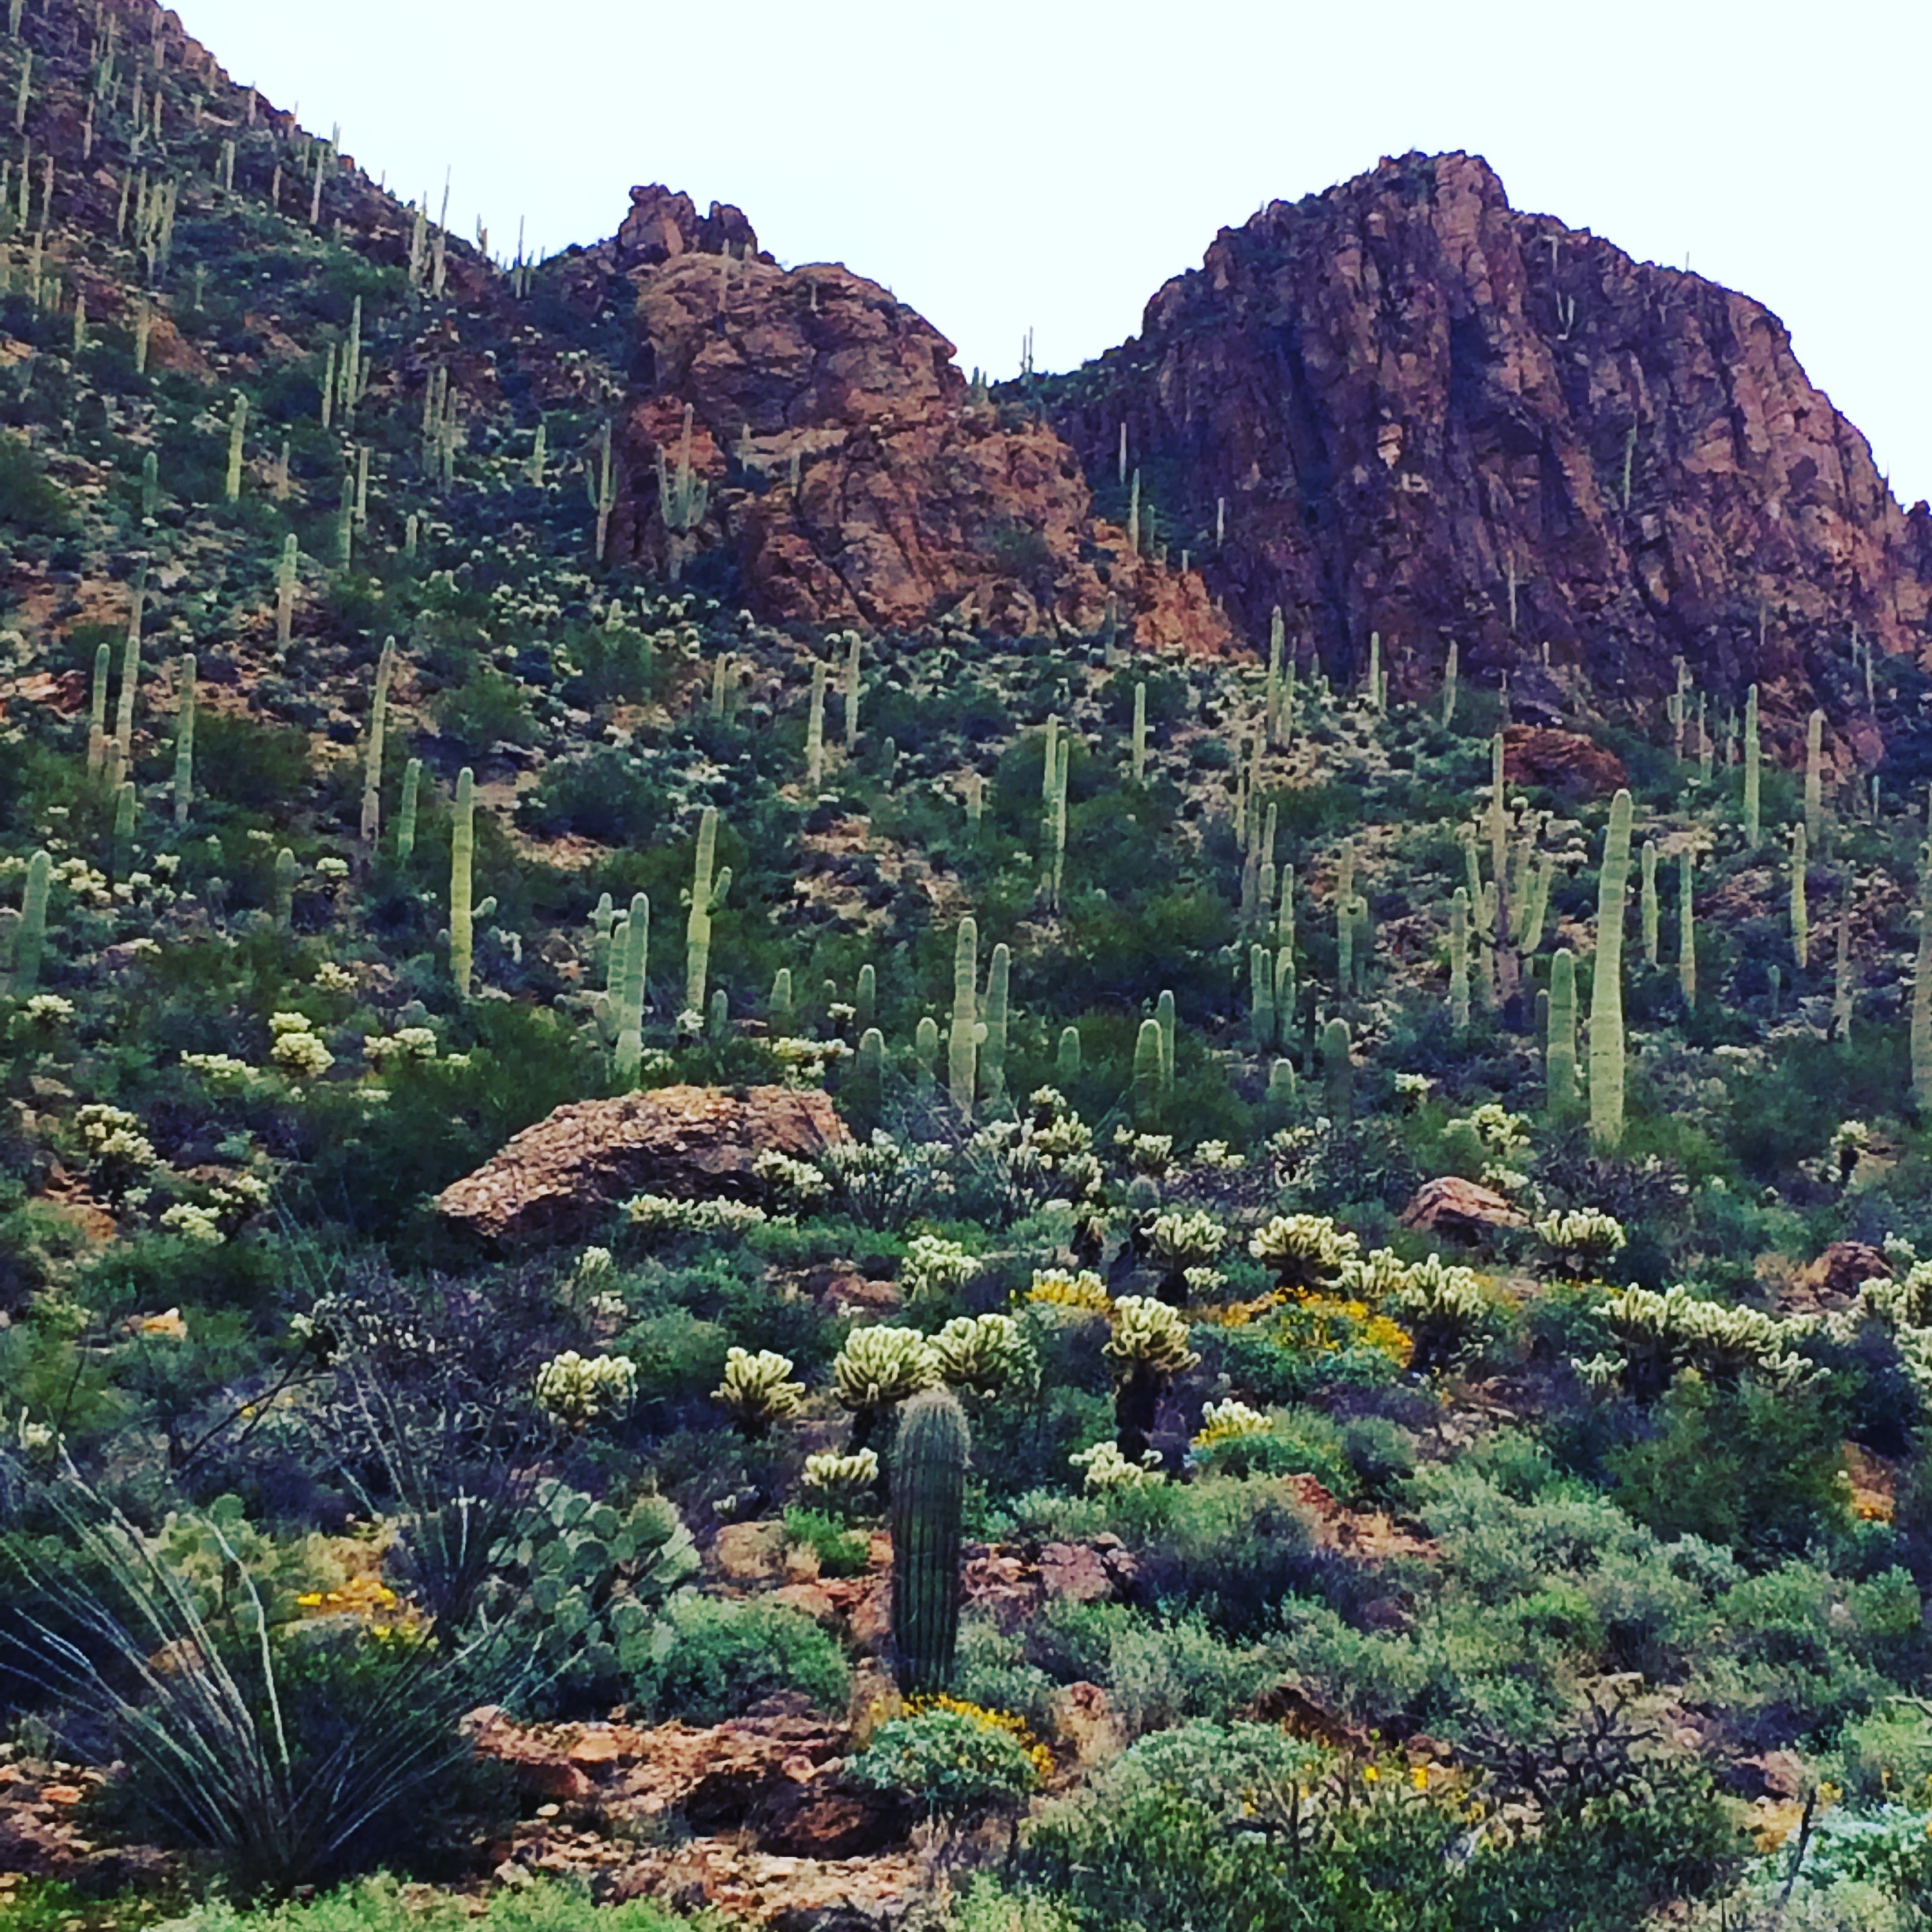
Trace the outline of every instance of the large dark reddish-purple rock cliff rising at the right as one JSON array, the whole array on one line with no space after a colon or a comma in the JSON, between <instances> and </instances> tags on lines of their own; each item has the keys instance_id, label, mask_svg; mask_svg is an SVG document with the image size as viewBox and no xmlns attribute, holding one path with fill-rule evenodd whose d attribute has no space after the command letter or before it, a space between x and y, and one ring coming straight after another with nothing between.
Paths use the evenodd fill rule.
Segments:
<instances>
[{"instance_id":1,"label":"large dark reddish-purple rock cliff rising at the right","mask_svg":"<svg viewBox=\"0 0 1932 1932\"><path fill-rule=\"evenodd\" d=\"M1464 670L1524 682L1548 643L1607 699L1667 690L1681 655L1791 713L1853 624L1926 655L1932 520L1899 510L1783 325L1517 213L1470 155L1223 230L1061 384L1055 421L1109 481L1126 425L1250 638L1281 605L1302 651L1349 667L1379 630L1410 688L1451 639Z\"/></svg>"}]
</instances>

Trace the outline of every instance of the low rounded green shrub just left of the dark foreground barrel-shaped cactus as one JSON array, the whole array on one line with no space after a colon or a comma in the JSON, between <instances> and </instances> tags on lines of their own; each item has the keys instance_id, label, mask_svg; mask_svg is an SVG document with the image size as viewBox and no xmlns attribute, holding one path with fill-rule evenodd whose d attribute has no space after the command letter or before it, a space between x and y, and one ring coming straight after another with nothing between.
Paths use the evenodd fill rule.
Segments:
<instances>
[{"instance_id":1,"label":"low rounded green shrub just left of the dark foreground barrel-shaped cactus","mask_svg":"<svg viewBox=\"0 0 1932 1932\"><path fill-rule=\"evenodd\" d=\"M661 1718L690 1723L723 1723L781 1690L842 1710L852 1689L838 1644L784 1604L674 1598L653 1650L632 1679L634 1692Z\"/></svg>"}]
</instances>

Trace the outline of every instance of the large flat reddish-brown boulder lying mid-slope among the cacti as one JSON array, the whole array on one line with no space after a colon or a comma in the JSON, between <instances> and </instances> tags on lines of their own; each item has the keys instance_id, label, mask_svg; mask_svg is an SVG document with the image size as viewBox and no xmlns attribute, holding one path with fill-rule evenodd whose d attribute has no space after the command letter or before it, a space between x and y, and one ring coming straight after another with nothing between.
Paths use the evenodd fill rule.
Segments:
<instances>
[{"instance_id":1,"label":"large flat reddish-brown boulder lying mid-slope among the cacti","mask_svg":"<svg viewBox=\"0 0 1932 1932\"><path fill-rule=\"evenodd\" d=\"M846 1138L823 1094L657 1088L578 1101L524 1128L437 1208L489 1240L580 1240L634 1194L759 1200L759 1153L811 1159Z\"/></svg>"}]
</instances>

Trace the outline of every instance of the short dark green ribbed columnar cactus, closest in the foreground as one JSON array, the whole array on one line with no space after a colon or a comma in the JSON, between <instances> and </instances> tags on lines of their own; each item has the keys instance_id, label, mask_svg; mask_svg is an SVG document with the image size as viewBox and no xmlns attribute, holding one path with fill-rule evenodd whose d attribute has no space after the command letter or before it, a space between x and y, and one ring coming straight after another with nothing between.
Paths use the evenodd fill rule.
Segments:
<instances>
[{"instance_id":1,"label":"short dark green ribbed columnar cactus, closest in the foreground","mask_svg":"<svg viewBox=\"0 0 1932 1932\"><path fill-rule=\"evenodd\" d=\"M960 1536L972 1434L951 1389L898 1410L893 1443L893 1650L900 1690L952 1677L960 1629Z\"/></svg>"}]
</instances>

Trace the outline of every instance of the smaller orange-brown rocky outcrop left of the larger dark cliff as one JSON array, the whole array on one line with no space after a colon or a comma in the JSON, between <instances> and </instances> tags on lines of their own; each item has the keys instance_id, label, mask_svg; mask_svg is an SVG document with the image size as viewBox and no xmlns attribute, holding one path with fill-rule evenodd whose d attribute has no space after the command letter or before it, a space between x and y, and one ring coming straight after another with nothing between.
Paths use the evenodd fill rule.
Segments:
<instances>
[{"instance_id":1,"label":"smaller orange-brown rocky outcrop left of the larger dark cliff","mask_svg":"<svg viewBox=\"0 0 1932 1932\"><path fill-rule=\"evenodd\" d=\"M1225 641L1200 576L1095 526L1072 448L976 396L952 344L877 282L781 269L738 209L699 218L663 187L632 189L580 272L634 290L614 554L724 551L746 603L779 622L918 630L972 612L1009 634L1094 632L1111 599L1142 643ZM686 410L709 489L688 535L659 500L659 452L676 471Z\"/></svg>"}]
</instances>

